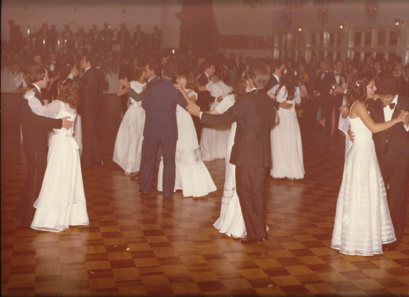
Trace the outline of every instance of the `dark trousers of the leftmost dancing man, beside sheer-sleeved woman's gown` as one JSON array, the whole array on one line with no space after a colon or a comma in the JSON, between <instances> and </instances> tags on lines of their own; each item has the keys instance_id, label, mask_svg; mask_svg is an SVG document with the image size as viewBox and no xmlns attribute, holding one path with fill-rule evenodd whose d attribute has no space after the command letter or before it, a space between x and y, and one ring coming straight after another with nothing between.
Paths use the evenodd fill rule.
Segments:
<instances>
[{"instance_id":1,"label":"dark trousers of the leftmost dancing man, beside sheer-sleeved woman's gown","mask_svg":"<svg viewBox=\"0 0 409 297\"><path fill-rule=\"evenodd\" d=\"M21 190L20 201L13 212L13 218L21 219L23 226L30 226L35 212L34 201L40 194L47 168L47 151L28 152L26 153L26 161L28 163L27 179Z\"/></svg>"}]
</instances>

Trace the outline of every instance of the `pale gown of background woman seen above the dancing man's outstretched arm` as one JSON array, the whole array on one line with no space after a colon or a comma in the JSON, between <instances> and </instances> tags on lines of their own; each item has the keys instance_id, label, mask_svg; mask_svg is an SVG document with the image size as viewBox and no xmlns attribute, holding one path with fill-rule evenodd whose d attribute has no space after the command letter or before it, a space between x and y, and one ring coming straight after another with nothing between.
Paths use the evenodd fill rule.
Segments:
<instances>
[{"instance_id":1,"label":"pale gown of background woman seen above the dancing man's outstretched arm","mask_svg":"<svg viewBox=\"0 0 409 297\"><path fill-rule=\"evenodd\" d=\"M209 81L206 85L212 97L226 96L231 92L231 87L219 81L213 83ZM210 104L210 110L215 109L219 102ZM225 159L227 139L229 138L231 125L212 126L203 125L202 134L200 136L200 152L202 153L203 161L211 161L214 159Z\"/></svg>"}]
</instances>

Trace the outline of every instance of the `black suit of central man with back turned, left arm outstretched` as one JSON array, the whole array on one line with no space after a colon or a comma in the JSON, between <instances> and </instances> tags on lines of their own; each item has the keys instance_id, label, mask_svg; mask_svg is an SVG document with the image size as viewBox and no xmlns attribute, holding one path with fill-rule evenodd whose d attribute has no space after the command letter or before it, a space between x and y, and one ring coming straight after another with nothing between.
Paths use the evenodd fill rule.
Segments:
<instances>
[{"instance_id":1,"label":"black suit of central man with back turned, left arm outstretched","mask_svg":"<svg viewBox=\"0 0 409 297\"><path fill-rule=\"evenodd\" d=\"M254 89L238 98L225 113L203 113L200 121L210 125L237 122L230 163L236 165L236 189L249 239L266 233L266 168L271 165L269 134L274 124L274 101L267 93Z\"/></svg>"}]
</instances>

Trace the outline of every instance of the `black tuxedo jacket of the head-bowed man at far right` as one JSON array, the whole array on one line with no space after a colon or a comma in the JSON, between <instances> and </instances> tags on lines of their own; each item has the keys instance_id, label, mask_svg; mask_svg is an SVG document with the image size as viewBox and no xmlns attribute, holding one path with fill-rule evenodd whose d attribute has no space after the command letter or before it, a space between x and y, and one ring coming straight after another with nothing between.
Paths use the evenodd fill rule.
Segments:
<instances>
[{"instance_id":1,"label":"black tuxedo jacket of the head-bowed man at far right","mask_svg":"<svg viewBox=\"0 0 409 297\"><path fill-rule=\"evenodd\" d=\"M383 107L380 100L370 100L367 109L375 123L385 122ZM398 103L393 110L392 118L396 118L401 109L409 110L409 97L398 96ZM405 130L403 123L398 123L390 127L388 130L373 134L375 151L378 156L384 152L387 141L393 159L409 162L409 132Z\"/></svg>"}]
</instances>

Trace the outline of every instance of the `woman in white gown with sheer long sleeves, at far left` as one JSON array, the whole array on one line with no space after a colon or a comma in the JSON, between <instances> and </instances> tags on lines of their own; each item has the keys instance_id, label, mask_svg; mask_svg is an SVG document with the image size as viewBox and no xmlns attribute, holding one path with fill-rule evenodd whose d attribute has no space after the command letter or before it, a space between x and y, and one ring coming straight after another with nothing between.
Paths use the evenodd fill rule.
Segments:
<instances>
[{"instance_id":1,"label":"woman in white gown with sheer long sleeves, at far left","mask_svg":"<svg viewBox=\"0 0 409 297\"><path fill-rule=\"evenodd\" d=\"M27 93L25 98L30 96L34 96L34 92ZM36 113L49 118L69 116L70 121L74 121L78 98L74 80L63 79L58 83L57 99ZM70 226L89 225L79 146L72 137L73 131L73 127L54 129L43 185L34 202L33 229L60 232Z\"/></svg>"}]
</instances>

